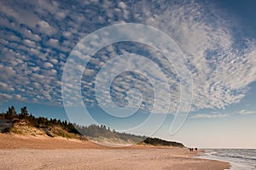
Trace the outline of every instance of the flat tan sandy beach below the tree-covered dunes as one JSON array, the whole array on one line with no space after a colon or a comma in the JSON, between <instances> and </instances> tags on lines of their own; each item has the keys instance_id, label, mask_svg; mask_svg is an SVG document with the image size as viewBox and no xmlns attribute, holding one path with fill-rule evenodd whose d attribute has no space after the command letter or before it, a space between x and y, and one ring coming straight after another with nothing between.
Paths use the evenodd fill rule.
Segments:
<instances>
[{"instance_id":1,"label":"flat tan sandy beach below the tree-covered dunes","mask_svg":"<svg viewBox=\"0 0 256 170\"><path fill-rule=\"evenodd\" d=\"M229 163L194 158L196 152L135 145L110 148L90 141L0 134L1 169L220 170Z\"/></svg>"}]
</instances>

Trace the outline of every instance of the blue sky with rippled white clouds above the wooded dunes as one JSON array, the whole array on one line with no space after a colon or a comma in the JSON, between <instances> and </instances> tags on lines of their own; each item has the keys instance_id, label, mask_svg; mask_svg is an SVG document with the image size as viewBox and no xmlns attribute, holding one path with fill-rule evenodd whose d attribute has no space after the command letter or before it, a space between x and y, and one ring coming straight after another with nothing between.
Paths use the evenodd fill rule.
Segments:
<instances>
[{"instance_id":1,"label":"blue sky with rippled white clouds above the wooded dunes","mask_svg":"<svg viewBox=\"0 0 256 170\"><path fill-rule=\"evenodd\" d=\"M0 111L256 148L255 5L0 1Z\"/></svg>"}]
</instances>

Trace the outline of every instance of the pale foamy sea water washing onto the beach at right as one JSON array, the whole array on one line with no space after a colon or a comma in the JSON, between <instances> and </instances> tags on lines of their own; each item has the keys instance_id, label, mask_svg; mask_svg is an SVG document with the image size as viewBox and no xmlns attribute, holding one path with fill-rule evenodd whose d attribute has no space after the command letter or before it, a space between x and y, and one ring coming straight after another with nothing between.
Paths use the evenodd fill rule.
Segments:
<instances>
[{"instance_id":1,"label":"pale foamy sea water washing onto the beach at right","mask_svg":"<svg viewBox=\"0 0 256 170\"><path fill-rule=\"evenodd\" d=\"M249 149L206 149L200 156L218 161L230 162L231 170L256 170L256 150Z\"/></svg>"}]
</instances>

